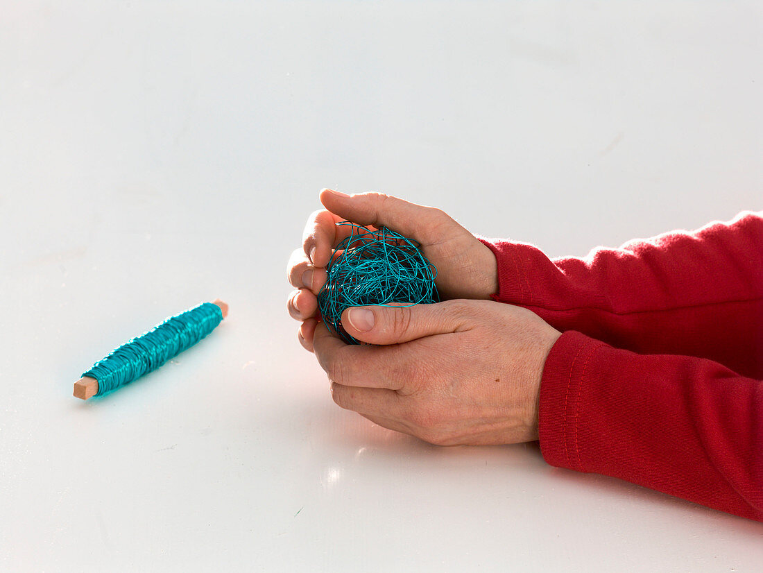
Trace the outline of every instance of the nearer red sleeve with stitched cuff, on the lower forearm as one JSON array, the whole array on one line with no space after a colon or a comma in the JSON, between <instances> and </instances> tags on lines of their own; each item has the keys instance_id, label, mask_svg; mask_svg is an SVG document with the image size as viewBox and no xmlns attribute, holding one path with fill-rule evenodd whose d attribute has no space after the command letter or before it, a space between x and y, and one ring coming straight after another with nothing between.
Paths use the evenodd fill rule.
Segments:
<instances>
[{"instance_id":1,"label":"nearer red sleeve with stitched cuff, on the lower forearm","mask_svg":"<svg viewBox=\"0 0 763 573\"><path fill-rule=\"evenodd\" d=\"M543 371L539 435L552 465L763 521L763 381L716 362L564 333Z\"/></svg>"}]
</instances>

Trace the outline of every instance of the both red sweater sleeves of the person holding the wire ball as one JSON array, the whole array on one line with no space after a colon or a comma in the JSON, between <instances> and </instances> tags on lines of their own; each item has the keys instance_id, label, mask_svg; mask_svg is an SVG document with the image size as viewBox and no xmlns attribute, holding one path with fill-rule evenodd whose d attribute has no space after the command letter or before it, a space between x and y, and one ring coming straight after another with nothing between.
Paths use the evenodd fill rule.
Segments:
<instances>
[{"instance_id":1,"label":"both red sweater sleeves of the person holding the wire ball","mask_svg":"<svg viewBox=\"0 0 763 573\"><path fill-rule=\"evenodd\" d=\"M563 332L540 388L547 462L763 521L763 213L582 259L483 242L493 298Z\"/></svg>"}]
</instances>

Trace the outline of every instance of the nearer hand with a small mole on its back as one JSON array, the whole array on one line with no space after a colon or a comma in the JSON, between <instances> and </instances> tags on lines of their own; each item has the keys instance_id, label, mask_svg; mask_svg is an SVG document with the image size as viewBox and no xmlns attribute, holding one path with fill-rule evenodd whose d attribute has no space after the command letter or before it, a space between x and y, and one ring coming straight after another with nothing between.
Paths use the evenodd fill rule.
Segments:
<instances>
[{"instance_id":1,"label":"nearer hand with a small mole on its back","mask_svg":"<svg viewBox=\"0 0 763 573\"><path fill-rule=\"evenodd\" d=\"M315 329L314 348L336 404L427 442L538 439L543 365L561 336L531 311L494 301L353 307L354 346Z\"/></svg>"}]
</instances>

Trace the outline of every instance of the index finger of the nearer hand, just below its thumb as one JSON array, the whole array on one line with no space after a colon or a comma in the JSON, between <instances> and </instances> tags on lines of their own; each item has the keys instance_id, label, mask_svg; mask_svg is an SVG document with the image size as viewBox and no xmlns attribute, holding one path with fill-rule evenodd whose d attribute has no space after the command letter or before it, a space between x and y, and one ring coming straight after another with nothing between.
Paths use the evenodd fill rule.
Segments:
<instances>
[{"instance_id":1,"label":"index finger of the nearer hand, just below its thumb","mask_svg":"<svg viewBox=\"0 0 763 573\"><path fill-rule=\"evenodd\" d=\"M314 330L313 348L331 381L356 388L404 391L414 368L398 347L356 346L333 336L325 324Z\"/></svg>"}]
</instances>

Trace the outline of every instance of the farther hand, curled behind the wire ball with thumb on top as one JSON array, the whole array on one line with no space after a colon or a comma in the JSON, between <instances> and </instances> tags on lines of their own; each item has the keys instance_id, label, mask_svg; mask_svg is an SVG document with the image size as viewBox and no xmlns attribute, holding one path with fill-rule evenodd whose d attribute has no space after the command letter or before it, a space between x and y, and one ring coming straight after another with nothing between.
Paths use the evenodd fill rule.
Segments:
<instances>
[{"instance_id":1,"label":"farther hand, curled behind the wire ball with thumb on top","mask_svg":"<svg viewBox=\"0 0 763 573\"><path fill-rule=\"evenodd\" d=\"M351 232L337 227L352 221L371 229L384 226L420 243L424 256L437 269L435 283L442 300L486 299L498 290L495 256L472 233L443 211L381 193L346 195L320 192L326 210L307 219L302 246L291 253L288 280L298 290L288 299L288 311L302 324L299 340L312 352L317 320L317 293L326 282L326 266L333 249Z\"/></svg>"}]
</instances>

